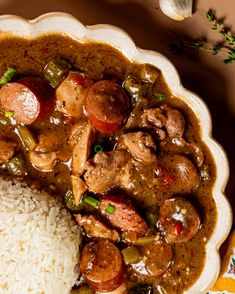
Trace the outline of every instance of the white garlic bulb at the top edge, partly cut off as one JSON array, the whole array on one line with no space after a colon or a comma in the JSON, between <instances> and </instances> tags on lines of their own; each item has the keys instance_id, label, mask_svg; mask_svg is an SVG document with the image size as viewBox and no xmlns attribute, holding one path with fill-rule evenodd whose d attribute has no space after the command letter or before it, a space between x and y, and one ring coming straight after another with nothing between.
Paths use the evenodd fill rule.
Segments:
<instances>
[{"instance_id":1,"label":"white garlic bulb at the top edge, partly cut off","mask_svg":"<svg viewBox=\"0 0 235 294\"><path fill-rule=\"evenodd\" d=\"M192 16L193 0L159 0L159 6L170 18L183 20Z\"/></svg>"}]
</instances>

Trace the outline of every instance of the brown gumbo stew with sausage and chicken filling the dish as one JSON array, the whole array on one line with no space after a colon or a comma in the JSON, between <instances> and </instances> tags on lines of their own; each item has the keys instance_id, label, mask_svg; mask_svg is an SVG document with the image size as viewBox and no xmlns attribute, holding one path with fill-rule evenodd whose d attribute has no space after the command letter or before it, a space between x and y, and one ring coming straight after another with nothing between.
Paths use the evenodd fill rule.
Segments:
<instances>
[{"instance_id":1,"label":"brown gumbo stew with sausage and chicken filling the dish","mask_svg":"<svg viewBox=\"0 0 235 294\"><path fill-rule=\"evenodd\" d=\"M101 43L1 40L3 176L62 197L83 231L74 293L183 293L216 222L213 158L161 71Z\"/></svg>"}]
</instances>

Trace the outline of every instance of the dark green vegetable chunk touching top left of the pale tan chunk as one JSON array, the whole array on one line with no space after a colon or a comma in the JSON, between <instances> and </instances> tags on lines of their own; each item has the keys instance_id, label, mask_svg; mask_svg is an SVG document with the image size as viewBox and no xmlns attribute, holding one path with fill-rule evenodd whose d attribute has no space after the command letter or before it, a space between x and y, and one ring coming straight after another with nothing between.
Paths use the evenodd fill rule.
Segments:
<instances>
[{"instance_id":1,"label":"dark green vegetable chunk touching top left of the pale tan chunk","mask_svg":"<svg viewBox=\"0 0 235 294\"><path fill-rule=\"evenodd\" d=\"M56 88L60 82L65 78L72 65L65 59L57 59L50 61L44 68L44 77Z\"/></svg>"}]
</instances>

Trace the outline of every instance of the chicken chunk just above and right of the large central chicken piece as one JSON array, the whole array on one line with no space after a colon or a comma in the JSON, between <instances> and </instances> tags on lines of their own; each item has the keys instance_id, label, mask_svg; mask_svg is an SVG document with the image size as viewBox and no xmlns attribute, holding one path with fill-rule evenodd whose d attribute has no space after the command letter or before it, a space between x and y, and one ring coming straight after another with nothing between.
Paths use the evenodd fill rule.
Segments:
<instances>
[{"instance_id":1,"label":"chicken chunk just above and right of the large central chicken piece","mask_svg":"<svg viewBox=\"0 0 235 294\"><path fill-rule=\"evenodd\" d=\"M121 140L137 161L143 164L151 164L156 161L156 145L148 133L127 133L122 135Z\"/></svg>"}]
</instances>

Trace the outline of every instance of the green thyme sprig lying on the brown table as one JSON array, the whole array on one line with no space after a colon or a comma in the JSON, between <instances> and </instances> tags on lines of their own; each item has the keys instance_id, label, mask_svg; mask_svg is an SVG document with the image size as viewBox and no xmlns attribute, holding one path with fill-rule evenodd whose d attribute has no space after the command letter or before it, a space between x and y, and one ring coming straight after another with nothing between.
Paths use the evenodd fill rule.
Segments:
<instances>
[{"instance_id":1,"label":"green thyme sprig lying on the brown table","mask_svg":"<svg viewBox=\"0 0 235 294\"><path fill-rule=\"evenodd\" d=\"M199 51L208 51L213 55L221 53L225 56L224 64L233 63L235 61L235 36L224 25L223 20L216 17L215 11L212 9L206 12L206 18L212 24L212 29L217 30L223 37L221 42L209 47L207 40L190 40L187 42L181 39L172 43L171 49L175 53L182 53L185 49L193 49L195 53Z\"/></svg>"}]
</instances>

